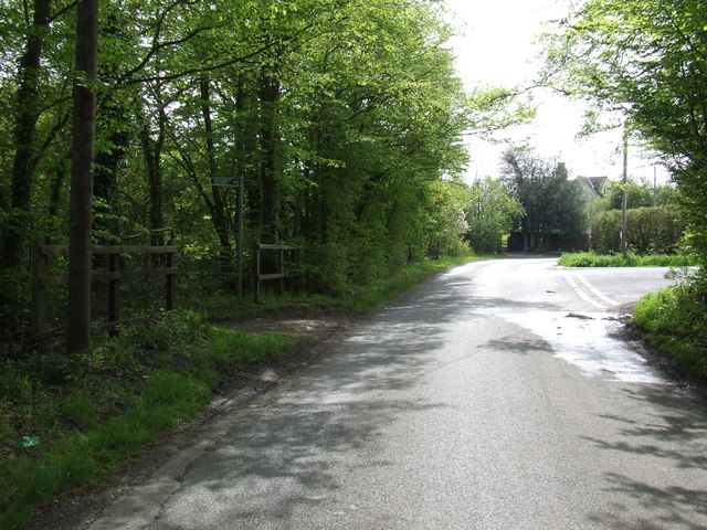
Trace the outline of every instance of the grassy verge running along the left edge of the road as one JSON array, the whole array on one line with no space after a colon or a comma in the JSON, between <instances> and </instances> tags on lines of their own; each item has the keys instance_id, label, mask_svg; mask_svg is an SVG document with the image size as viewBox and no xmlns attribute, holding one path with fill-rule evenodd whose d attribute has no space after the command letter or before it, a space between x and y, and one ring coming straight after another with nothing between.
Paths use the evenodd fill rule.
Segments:
<instances>
[{"instance_id":1,"label":"grassy verge running along the left edge of the road","mask_svg":"<svg viewBox=\"0 0 707 530\"><path fill-rule=\"evenodd\" d=\"M430 275L492 256L414 264L352 296L268 297L255 306L232 294L190 300L192 309L96 337L92 351L32 351L0 363L0 530L21 528L36 508L101 484L179 422L193 417L245 363L278 356L297 340L208 324L293 305L367 310Z\"/></svg>"}]
</instances>

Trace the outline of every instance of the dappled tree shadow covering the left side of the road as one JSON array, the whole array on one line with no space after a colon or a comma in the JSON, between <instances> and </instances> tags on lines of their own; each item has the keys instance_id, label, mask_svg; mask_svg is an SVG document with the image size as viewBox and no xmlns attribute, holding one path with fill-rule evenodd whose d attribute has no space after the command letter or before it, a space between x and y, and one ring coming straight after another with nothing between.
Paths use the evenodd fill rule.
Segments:
<instances>
[{"instance_id":1,"label":"dappled tree shadow covering the left side of the road","mask_svg":"<svg viewBox=\"0 0 707 530\"><path fill-rule=\"evenodd\" d=\"M340 469L390 465L361 451L382 439L383 428L446 406L411 399L407 391L433 368L430 353L442 346L445 326L479 304L496 300L465 296L463 282L440 278L377 311L334 354L247 414L197 460L182 477L188 486L168 501L154 528L275 528L267 526L272 521L288 528L303 506L336 504Z\"/></svg>"}]
</instances>

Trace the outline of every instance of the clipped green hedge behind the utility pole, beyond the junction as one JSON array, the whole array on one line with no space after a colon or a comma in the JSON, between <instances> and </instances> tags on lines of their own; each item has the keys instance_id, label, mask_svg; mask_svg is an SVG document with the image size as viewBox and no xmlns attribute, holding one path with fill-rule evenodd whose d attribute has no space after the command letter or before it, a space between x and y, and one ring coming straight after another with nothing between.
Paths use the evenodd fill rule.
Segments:
<instances>
[{"instance_id":1,"label":"clipped green hedge behind the utility pole, beyond the junction","mask_svg":"<svg viewBox=\"0 0 707 530\"><path fill-rule=\"evenodd\" d=\"M676 206L636 208L626 212L626 243L639 254L673 254L685 222ZM621 246L621 211L599 214L592 222L589 248L598 254L618 252Z\"/></svg>"}]
</instances>

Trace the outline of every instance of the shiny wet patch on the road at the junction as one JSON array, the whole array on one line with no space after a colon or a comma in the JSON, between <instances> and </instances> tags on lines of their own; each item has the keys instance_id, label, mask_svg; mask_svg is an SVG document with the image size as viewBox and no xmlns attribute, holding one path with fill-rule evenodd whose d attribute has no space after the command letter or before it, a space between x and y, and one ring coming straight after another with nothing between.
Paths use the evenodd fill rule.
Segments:
<instances>
[{"instance_id":1,"label":"shiny wet patch on the road at the junction","mask_svg":"<svg viewBox=\"0 0 707 530\"><path fill-rule=\"evenodd\" d=\"M609 337L609 314L534 311L499 316L542 338L552 347L555 357L579 367L589 377L667 384L643 357Z\"/></svg>"}]
</instances>

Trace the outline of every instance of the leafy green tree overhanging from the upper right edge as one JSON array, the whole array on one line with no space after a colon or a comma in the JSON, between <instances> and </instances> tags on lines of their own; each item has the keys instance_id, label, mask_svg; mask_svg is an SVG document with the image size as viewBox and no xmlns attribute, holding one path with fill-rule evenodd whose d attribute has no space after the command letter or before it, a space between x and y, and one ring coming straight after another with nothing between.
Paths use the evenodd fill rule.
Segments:
<instances>
[{"instance_id":1,"label":"leafy green tree overhanging from the upper right edge","mask_svg":"<svg viewBox=\"0 0 707 530\"><path fill-rule=\"evenodd\" d=\"M707 4L589 0L549 36L548 78L619 109L663 153L684 198L688 241L707 263Z\"/></svg>"}]
</instances>

